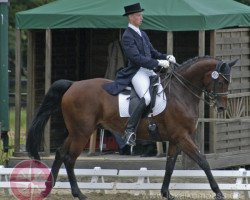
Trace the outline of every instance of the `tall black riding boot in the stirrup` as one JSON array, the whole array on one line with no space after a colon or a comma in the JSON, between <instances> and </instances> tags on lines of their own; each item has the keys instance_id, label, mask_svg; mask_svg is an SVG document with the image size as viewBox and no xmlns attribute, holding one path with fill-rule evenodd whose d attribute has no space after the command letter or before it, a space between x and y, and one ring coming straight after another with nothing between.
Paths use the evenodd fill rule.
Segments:
<instances>
[{"instance_id":1,"label":"tall black riding boot in the stirrup","mask_svg":"<svg viewBox=\"0 0 250 200\"><path fill-rule=\"evenodd\" d=\"M139 104L137 105L137 107L135 108L134 112L132 113L132 115L128 120L128 124L125 129L125 135L123 136L123 139L125 140L126 144L130 146L135 146L136 128L145 108L146 108L145 99L141 98Z\"/></svg>"}]
</instances>

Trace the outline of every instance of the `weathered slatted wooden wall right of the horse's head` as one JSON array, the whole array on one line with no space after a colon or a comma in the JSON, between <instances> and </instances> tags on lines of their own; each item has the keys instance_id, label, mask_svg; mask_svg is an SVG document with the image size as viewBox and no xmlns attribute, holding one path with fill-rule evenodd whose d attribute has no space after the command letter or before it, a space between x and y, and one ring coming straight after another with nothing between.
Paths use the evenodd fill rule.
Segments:
<instances>
[{"instance_id":1,"label":"weathered slatted wooden wall right of the horse's head","mask_svg":"<svg viewBox=\"0 0 250 200\"><path fill-rule=\"evenodd\" d=\"M225 61L239 58L232 68L232 82L228 109L217 114L225 122L215 123L215 153L213 166L235 166L250 164L250 29L225 29L216 31L215 55ZM226 122L228 120L228 122ZM226 158L226 159L224 159ZM217 164L216 164L217 162Z\"/></svg>"}]
</instances>

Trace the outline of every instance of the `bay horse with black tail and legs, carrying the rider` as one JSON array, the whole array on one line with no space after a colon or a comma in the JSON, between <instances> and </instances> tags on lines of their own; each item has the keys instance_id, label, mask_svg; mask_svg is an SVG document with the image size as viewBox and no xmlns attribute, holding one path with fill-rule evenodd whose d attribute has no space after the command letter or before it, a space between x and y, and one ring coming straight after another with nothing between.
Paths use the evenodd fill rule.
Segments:
<instances>
[{"instance_id":1,"label":"bay horse with black tail and legs, carrying the rider","mask_svg":"<svg viewBox=\"0 0 250 200\"><path fill-rule=\"evenodd\" d=\"M172 69L170 73L163 74L162 84L167 96L167 107L154 117L154 121L158 125L162 141L169 141L165 176L161 188L161 194L166 199L174 199L169 193L169 184L176 158L181 151L204 170L215 193L215 199L224 199L206 158L200 153L192 138L197 126L202 93L209 102L213 102L218 112L226 109L231 67L236 62L237 60L226 63L208 56L195 57ZM95 78L76 82L69 80L54 82L27 133L27 152L32 158L40 160L38 152L44 127L53 113L62 112L68 135L56 151L51 169L52 175L50 175L53 176L54 183L50 186L56 183L58 171L64 163L72 195L80 200L87 197L80 191L74 174L77 157L98 127L124 133L128 120L119 116L118 97L108 94L102 87L110 81ZM150 140L147 125L148 120L141 119L137 129L137 139ZM48 187L49 182L47 182Z\"/></svg>"}]
</instances>

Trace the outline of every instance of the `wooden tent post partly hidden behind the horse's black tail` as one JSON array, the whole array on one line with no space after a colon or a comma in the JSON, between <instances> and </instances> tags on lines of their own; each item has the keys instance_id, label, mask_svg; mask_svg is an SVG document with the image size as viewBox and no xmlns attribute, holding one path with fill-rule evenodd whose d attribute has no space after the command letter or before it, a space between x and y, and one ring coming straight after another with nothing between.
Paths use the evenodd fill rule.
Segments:
<instances>
[{"instance_id":1,"label":"wooden tent post partly hidden behind the horse's black tail","mask_svg":"<svg viewBox=\"0 0 250 200\"><path fill-rule=\"evenodd\" d=\"M45 94L51 86L51 59L52 59L52 34L51 30L46 30L46 47L45 47ZM50 154L50 120L44 131L44 153Z\"/></svg>"}]
</instances>

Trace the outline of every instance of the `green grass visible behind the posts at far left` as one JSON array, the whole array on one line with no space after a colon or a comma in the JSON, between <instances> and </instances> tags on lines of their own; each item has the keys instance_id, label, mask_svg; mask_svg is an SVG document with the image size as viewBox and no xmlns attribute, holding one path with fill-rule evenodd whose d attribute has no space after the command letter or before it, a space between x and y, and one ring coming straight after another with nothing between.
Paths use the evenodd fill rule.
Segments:
<instances>
[{"instance_id":1,"label":"green grass visible behind the posts at far left","mask_svg":"<svg viewBox=\"0 0 250 200\"><path fill-rule=\"evenodd\" d=\"M20 137L20 145L25 144L25 133L26 133L26 110L22 109L21 110L21 127L20 127L20 132L21 132L21 137ZM9 111L9 151L8 153L3 152L3 143L0 141L0 165L5 165L9 157L12 156L14 152L14 138L15 138L15 109L10 109Z\"/></svg>"}]
</instances>

